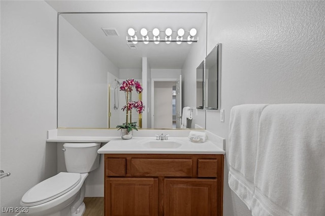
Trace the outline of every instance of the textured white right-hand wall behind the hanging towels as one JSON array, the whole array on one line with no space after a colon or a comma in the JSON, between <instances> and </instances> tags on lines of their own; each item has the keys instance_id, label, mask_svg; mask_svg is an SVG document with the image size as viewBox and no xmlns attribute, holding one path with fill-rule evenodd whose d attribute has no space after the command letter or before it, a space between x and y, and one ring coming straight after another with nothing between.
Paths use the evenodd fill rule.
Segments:
<instances>
[{"instance_id":1,"label":"textured white right-hand wall behind the hanging towels","mask_svg":"<svg viewBox=\"0 0 325 216\"><path fill-rule=\"evenodd\" d=\"M325 103L325 2L217 1L208 12L208 52L221 48L221 109L207 111L207 129L226 138L233 106ZM228 187L223 215L251 215ZM323 203L319 203L323 205Z\"/></svg>"}]
</instances>

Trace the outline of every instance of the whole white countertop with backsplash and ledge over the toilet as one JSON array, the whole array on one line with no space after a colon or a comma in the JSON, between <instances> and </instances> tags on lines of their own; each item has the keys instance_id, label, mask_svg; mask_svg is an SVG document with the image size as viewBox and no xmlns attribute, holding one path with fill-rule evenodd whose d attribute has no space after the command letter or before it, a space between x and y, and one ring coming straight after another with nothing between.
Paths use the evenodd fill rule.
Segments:
<instances>
[{"instance_id":1,"label":"whole white countertop with backsplash and ledge over the toilet","mask_svg":"<svg viewBox=\"0 0 325 216\"><path fill-rule=\"evenodd\" d=\"M98 152L100 154L225 154L225 139L209 131L205 132L207 140L204 143L192 143L188 139L190 131L185 129L141 129L134 133L131 140L122 140L116 129L51 129L47 131L46 142L101 142L105 144ZM179 148L146 148L144 141L155 140L155 134L169 134L170 140L185 142ZM142 141L141 141L142 140ZM161 141L164 142L164 141Z\"/></svg>"}]
</instances>

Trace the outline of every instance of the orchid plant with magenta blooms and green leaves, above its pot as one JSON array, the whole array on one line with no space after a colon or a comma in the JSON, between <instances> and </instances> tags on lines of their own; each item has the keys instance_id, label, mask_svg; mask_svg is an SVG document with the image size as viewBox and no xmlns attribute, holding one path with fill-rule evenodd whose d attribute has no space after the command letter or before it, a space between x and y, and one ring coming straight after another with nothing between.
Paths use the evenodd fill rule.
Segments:
<instances>
[{"instance_id":1,"label":"orchid plant with magenta blooms and green leaves, above its pot","mask_svg":"<svg viewBox=\"0 0 325 216\"><path fill-rule=\"evenodd\" d=\"M134 79L126 79L122 82L120 87L120 91L123 91L125 94L126 105L122 107L122 110L126 111L126 122L121 125L117 125L116 127L118 127L118 130L122 128L127 129L127 133L131 132L133 129L138 131L137 122L131 121L132 109L135 109L140 114L144 111L145 108L141 100L132 101L131 96L134 89L138 94L142 93L143 91L140 82Z\"/></svg>"}]
</instances>

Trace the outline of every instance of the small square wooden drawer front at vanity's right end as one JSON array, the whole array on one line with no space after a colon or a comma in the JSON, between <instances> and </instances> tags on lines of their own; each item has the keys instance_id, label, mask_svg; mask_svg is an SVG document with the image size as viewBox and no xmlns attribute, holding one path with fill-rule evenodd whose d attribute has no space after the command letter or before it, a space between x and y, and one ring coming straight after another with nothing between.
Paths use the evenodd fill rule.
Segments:
<instances>
[{"instance_id":1,"label":"small square wooden drawer front at vanity's right end","mask_svg":"<svg viewBox=\"0 0 325 216\"><path fill-rule=\"evenodd\" d=\"M198 159L198 177L217 177L217 159Z\"/></svg>"}]
</instances>

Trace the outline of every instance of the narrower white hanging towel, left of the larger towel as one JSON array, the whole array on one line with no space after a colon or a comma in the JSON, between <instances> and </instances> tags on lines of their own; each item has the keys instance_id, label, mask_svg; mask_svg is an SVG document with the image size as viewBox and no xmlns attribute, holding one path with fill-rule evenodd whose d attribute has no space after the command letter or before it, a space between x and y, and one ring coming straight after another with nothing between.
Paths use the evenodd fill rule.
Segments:
<instances>
[{"instance_id":1,"label":"narrower white hanging towel, left of the larger towel","mask_svg":"<svg viewBox=\"0 0 325 216\"><path fill-rule=\"evenodd\" d=\"M229 186L250 209L254 195L258 122L267 104L234 106L229 126Z\"/></svg>"}]
</instances>

